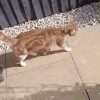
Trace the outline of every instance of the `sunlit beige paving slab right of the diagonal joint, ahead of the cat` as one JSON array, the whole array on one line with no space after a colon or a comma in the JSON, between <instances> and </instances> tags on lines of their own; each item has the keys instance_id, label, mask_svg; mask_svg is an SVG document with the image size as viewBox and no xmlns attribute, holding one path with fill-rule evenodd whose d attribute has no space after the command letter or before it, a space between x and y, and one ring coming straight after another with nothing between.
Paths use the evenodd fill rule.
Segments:
<instances>
[{"instance_id":1,"label":"sunlit beige paving slab right of the diagonal joint, ahead of the cat","mask_svg":"<svg viewBox=\"0 0 100 100\"><path fill-rule=\"evenodd\" d=\"M80 29L69 45L83 82L100 84L100 24Z\"/></svg>"}]
</instances>

